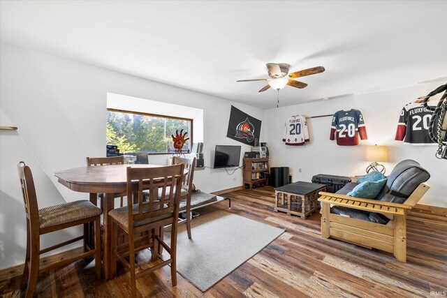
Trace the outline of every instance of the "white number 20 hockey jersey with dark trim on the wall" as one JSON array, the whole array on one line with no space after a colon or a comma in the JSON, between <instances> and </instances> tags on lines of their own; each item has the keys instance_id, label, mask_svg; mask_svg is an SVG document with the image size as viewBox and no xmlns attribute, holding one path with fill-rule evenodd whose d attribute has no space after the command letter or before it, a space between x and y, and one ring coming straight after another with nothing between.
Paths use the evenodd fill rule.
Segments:
<instances>
[{"instance_id":1,"label":"white number 20 hockey jersey with dark trim on the wall","mask_svg":"<svg viewBox=\"0 0 447 298\"><path fill-rule=\"evenodd\" d=\"M300 146L310 141L307 121L301 115L288 117L284 124L284 136L282 138L286 145Z\"/></svg>"}]
</instances>

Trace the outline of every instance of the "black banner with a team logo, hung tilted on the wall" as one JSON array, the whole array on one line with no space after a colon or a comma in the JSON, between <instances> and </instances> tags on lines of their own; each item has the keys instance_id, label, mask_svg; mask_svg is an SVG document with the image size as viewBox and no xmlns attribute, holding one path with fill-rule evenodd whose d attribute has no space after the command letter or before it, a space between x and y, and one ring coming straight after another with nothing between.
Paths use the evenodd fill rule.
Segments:
<instances>
[{"instance_id":1,"label":"black banner with a team logo, hung tilted on the wall","mask_svg":"<svg viewBox=\"0 0 447 298\"><path fill-rule=\"evenodd\" d=\"M261 120L245 114L232 105L226 136L238 142L254 146L254 140L259 140L261 122Z\"/></svg>"}]
</instances>

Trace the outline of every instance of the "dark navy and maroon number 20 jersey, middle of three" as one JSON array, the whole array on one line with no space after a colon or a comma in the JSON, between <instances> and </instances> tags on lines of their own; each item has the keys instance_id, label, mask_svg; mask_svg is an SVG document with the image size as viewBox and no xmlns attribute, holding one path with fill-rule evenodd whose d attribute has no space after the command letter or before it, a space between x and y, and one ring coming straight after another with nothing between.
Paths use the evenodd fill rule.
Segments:
<instances>
[{"instance_id":1,"label":"dark navy and maroon number 20 jersey, middle of three","mask_svg":"<svg viewBox=\"0 0 447 298\"><path fill-rule=\"evenodd\" d=\"M338 111L332 117L332 126L330 128L330 140L335 140L341 146L358 145L359 137L367 140L368 136L363 120L362 112L351 109L349 111Z\"/></svg>"}]
</instances>

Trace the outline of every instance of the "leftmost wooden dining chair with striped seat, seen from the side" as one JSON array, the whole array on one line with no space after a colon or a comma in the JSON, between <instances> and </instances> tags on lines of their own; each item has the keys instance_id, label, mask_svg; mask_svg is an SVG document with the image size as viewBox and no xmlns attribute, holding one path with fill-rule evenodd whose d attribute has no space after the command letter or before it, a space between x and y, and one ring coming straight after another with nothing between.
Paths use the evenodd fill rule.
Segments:
<instances>
[{"instance_id":1,"label":"leftmost wooden dining chair with striped seat, seen from the side","mask_svg":"<svg viewBox=\"0 0 447 298\"><path fill-rule=\"evenodd\" d=\"M101 279L101 209L87 200L67 202L38 209L36 188L31 169L22 161L17 165L17 169L27 217L27 252L20 284L20 288L27 286L26 297L33 297L39 274L56 267L68 265L82 258L91 258L92 255L95 259L96 278ZM94 248L91 248L88 243L89 223L94 224ZM76 225L84 225L82 236L41 249L42 234L64 230ZM80 240L84 240L83 253L40 267L41 254Z\"/></svg>"}]
</instances>

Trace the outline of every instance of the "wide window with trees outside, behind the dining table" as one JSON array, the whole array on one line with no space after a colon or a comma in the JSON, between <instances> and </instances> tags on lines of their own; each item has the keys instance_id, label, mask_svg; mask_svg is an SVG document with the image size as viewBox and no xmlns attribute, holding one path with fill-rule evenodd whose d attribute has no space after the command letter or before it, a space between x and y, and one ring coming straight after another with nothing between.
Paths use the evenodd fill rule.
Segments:
<instances>
[{"instance_id":1,"label":"wide window with trees outside, behind the dining table","mask_svg":"<svg viewBox=\"0 0 447 298\"><path fill-rule=\"evenodd\" d=\"M186 132L182 151L190 152L193 120L144 114L123 110L107 110L107 144L118 147L120 153L147 152L169 154L175 151L171 135Z\"/></svg>"}]
</instances>

